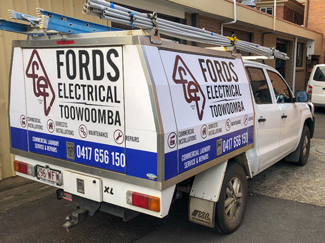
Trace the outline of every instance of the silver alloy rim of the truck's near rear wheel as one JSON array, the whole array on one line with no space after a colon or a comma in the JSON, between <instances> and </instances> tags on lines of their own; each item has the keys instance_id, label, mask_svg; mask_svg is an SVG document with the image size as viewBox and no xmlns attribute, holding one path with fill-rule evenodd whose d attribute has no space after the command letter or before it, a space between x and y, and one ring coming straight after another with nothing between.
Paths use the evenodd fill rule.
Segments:
<instances>
[{"instance_id":1,"label":"silver alloy rim of the truck's near rear wheel","mask_svg":"<svg viewBox=\"0 0 325 243\"><path fill-rule=\"evenodd\" d=\"M224 213L230 220L236 218L242 203L242 185L238 177L234 177L228 183L225 191Z\"/></svg>"}]
</instances>

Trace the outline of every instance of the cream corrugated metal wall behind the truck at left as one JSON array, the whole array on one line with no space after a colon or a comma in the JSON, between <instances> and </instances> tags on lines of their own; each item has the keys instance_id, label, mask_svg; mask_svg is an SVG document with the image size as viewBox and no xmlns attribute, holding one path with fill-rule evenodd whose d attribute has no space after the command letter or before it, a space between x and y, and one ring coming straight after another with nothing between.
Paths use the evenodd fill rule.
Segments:
<instances>
[{"instance_id":1,"label":"cream corrugated metal wall behind the truck at left","mask_svg":"<svg viewBox=\"0 0 325 243\"><path fill-rule=\"evenodd\" d=\"M0 0L0 18L9 20L8 9L36 15L36 8L107 25L97 17L81 13L84 0ZM8 80L13 39L25 39L26 35L0 31L0 180L14 176L13 155L9 151L8 130Z\"/></svg>"}]
</instances>

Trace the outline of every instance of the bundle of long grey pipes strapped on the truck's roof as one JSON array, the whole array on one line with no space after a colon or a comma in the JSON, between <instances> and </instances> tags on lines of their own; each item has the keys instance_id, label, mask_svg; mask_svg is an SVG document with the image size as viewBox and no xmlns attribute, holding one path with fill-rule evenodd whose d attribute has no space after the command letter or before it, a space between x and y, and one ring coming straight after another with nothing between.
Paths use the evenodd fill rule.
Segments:
<instances>
[{"instance_id":1,"label":"bundle of long grey pipes strapped on the truck's roof","mask_svg":"<svg viewBox=\"0 0 325 243\"><path fill-rule=\"evenodd\" d=\"M239 50L254 53L262 56L275 56L280 59L289 59L287 54L282 53L274 48L263 47L258 44L239 41L236 36L227 37L217 33L200 29L185 24L175 23L165 19L157 18L156 13L144 14L119 5L108 3L103 0L86 0L82 9L84 14L97 16L108 21L131 25L132 28L138 27L143 29L152 29L158 27L159 32L204 44L218 46L235 46Z\"/></svg>"}]
</instances>

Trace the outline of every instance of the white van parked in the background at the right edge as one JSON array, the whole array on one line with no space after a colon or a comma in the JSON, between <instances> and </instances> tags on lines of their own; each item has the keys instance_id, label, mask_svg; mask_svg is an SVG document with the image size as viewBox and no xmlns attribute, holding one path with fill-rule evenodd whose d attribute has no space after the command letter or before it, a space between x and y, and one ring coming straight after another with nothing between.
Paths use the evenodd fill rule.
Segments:
<instances>
[{"instance_id":1,"label":"white van parked in the background at the right edge","mask_svg":"<svg viewBox=\"0 0 325 243\"><path fill-rule=\"evenodd\" d=\"M325 107L325 64L318 64L313 67L307 92L315 106Z\"/></svg>"}]
</instances>

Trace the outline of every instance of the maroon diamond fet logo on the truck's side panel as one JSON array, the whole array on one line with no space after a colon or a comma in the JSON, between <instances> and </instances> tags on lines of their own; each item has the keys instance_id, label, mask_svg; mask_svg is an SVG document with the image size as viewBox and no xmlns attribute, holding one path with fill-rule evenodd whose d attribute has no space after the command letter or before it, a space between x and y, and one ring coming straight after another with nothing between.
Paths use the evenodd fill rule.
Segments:
<instances>
[{"instance_id":1,"label":"maroon diamond fet logo on the truck's side panel","mask_svg":"<svg viewBox=\"0 0 325 243\"><path fill-rule=\"evenodd\" d=\"M177 55L175 58L173 80L183 86L184 98L187 103L195 102L200 120L203 118L205 96L196 78L190 72L183 59Z\"/></svg>"}]
</instances>

